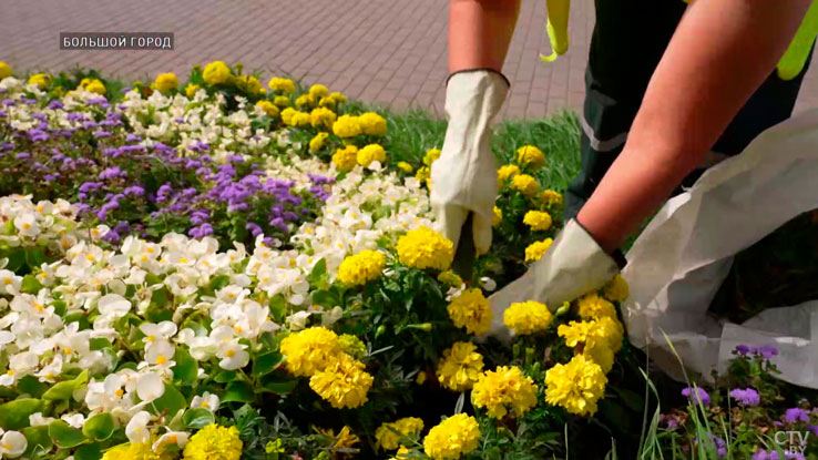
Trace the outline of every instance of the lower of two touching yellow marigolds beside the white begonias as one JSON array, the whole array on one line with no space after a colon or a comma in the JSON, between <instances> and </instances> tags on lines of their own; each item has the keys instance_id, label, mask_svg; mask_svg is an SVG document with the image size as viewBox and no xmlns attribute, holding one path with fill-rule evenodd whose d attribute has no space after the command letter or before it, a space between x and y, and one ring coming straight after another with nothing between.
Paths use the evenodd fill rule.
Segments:
<instances>
[{"instance_id":1,"label":"lower of two touching yellow marigolds beside the white begonias","mask_svg":"<svg viewBox=\"0 0 818 460\"><path fill-rule=\"evenodd\" d=\"M362 362L340 354L324 370L309 378L309 388L336 409L352 409L367 402L372 376Z\"/></svg>"}]
</instances>

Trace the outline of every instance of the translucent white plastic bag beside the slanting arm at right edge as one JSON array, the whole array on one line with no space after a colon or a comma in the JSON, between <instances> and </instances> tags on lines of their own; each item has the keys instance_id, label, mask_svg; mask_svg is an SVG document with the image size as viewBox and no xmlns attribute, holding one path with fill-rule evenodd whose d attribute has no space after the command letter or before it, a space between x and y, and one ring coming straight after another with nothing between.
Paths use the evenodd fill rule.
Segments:
<instances>
[{"instance_id":1,"label":"translucent white plastic bag beside the slanting arm at right edge","mask_svg":"<svg viewBox=\"0 0 818 460\"><path fill-rule=\"evenodd\" d=\"M653 218L623 270L631 288L623 305L631 341L682 379L669 339L685 367L705 380L713 369L726 370L736 345L774 345L781 379L818 388L818 300L768 309L742 325L707 314L736 253L814 208L818 110L767 130Z\"/></svg>"}]
</instances>

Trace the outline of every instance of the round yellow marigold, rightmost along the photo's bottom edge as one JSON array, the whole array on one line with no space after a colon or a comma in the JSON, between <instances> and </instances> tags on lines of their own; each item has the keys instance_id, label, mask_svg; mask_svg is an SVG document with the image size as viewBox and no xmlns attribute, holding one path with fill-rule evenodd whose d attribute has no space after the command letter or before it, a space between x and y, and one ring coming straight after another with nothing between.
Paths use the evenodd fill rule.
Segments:
<instances>
[{"instance_id":1,"label":"round yellow marigold, rightmost along the photo's bottom edge","mask_svg":"<svg viewBox=\"0 0 818 460\"><path fill-rule=\"evenodd\" d=\"M458 413L429 430L423 450L434 460L457 460L478 448L480 436L474 417Z\"/></svg>"}]
</instances>

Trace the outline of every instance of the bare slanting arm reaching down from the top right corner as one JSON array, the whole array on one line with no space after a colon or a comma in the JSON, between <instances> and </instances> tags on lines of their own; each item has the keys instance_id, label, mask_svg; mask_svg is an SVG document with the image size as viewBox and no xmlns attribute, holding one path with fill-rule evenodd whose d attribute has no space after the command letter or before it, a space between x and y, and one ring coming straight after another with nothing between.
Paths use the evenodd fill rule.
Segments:
<instances>
[{"instance_id":1,"label":"bare slanting arm reaching down from the top right corner","mask_svg":"<svg viewBox=\"0 0 818 460\"><path fill-rule=\"evenodd\" d=\"M616 248L702 161L775 69L809 0L696 0L651 79L620 157L577 215Z\"/></svg>"}]
</instances>

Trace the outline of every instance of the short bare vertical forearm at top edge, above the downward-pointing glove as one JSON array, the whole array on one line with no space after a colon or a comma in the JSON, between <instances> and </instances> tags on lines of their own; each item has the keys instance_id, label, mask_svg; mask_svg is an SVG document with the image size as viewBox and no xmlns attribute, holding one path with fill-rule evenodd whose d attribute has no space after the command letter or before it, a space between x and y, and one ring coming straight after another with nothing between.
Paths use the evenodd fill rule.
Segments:
<instances>
[{"instance_id":1,"label":"short bare vertical forearm at top edge, above the downward-pointing glove","mask_svg":"<svg viewBox=\"0 0 818 460\"><path fill-rule=\"evenodd\" d=\"M449 73L502 71L521 0L450 0Z\"/></svg>"}]
</instances>

